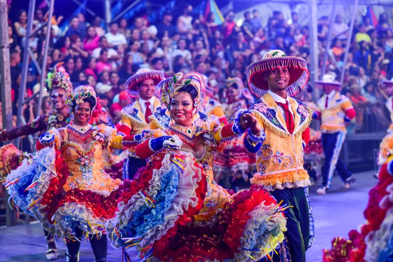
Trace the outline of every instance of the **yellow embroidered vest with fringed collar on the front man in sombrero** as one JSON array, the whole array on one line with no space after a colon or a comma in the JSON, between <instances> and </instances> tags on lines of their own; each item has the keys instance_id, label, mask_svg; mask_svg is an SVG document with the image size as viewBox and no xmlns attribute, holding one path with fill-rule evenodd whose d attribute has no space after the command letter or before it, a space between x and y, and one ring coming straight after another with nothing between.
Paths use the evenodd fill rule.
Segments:
<instances>
[{"instance_id":1,"label":"yellow embroidered vest with fringed collar on the front man in sombrero","mask_svg":"<svg viewBox=\"0 0 393 262\"><path fill-rule=\"evenodd\" d=\"M266 134L266 140L256 153L257 173L250 182L263 185L267 190L310 184L303 168L302 134L311 122L312 113L302 102L292 98L289 101L294 114L292 134L287 131L281 111L269 94L250 107Z\"/></svg>"}]
</instances>

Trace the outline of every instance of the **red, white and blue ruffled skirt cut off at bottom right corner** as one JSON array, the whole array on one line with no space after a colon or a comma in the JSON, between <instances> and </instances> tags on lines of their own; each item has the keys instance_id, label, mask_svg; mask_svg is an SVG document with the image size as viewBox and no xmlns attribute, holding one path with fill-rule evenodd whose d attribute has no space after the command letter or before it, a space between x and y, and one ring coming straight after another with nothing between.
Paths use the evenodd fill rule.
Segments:
<instances>
[{"instance_id":1,"label":"red, white and blue ruffled skirt cut off at bottom right corner","mask_svg":"<svg viewBox=\"0 0 393 262\"><path fill-rule=\"evenodd\" d=\"M359 232L351 230L349 239L336 237L325 250L324 261L389 261L393 249L392 157L379 171L379 181L369 192L364 211L366 223ZM388 171L389 170L389 171Z\"/></svg>"}]
</instances>

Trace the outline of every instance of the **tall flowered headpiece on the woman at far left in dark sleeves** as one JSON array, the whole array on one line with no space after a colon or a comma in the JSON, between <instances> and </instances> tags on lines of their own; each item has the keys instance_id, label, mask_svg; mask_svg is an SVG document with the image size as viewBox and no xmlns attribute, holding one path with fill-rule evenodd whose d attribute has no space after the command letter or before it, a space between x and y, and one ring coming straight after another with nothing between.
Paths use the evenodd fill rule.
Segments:
<instances>
[{"instance_id":1,"label":"tall flowered headpiece on the woman at far left in dark sleeves","mask_svg":"<svg viewBox=\"0 0 393 262\"><path fill-rule=\"evenodd\" d=\"M56 88L63 88L66 92L66 104L70 105L70 97L73 91L70 76L63 67L63 62L57 63L52 67L51 72L48 73L45 79L45 86L48 92Z\"/></svg>"}]
</instances>

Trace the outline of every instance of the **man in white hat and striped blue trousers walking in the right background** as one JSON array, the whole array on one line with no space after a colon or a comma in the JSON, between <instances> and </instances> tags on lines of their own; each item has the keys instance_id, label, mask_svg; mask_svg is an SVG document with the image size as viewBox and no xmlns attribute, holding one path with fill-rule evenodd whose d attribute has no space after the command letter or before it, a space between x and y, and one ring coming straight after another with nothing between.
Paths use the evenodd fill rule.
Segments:
<instances>
[{"instance_id":1,"label":"man in white hat and striped blue trousers walking in the right background","mask_svg":"<svg viewBox=\"0 0 393 262\"><path fill-rule=\"evenodd\" d=\"M316 191L319 195L328 192L335 170L344 182L344 188L349 188L351 183L355 181L355 177L339 158L339 154L345 139L345 124L355 117L356 112L351 101L340 94L341 83L335 79L335 76L326 74L321 81L315 81L315 86L323 88L325 92L317 103L318 111L314 113L314 118L322 121L320 129L325 154L325 163L322 167L322 186Z\"/></svg>"}]
</instances>

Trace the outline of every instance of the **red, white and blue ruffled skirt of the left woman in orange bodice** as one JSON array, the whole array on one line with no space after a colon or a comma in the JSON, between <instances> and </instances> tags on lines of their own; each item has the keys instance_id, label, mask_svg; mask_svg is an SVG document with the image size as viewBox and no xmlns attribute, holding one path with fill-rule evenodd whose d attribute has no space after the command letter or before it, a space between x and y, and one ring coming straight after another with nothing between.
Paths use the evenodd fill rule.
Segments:
<instances>
[{"instance_id":1,"label":"red, white and blue ruffled skirt of the left woman in orange bodice","mask_svg":"<svg viewBox=\"0 0 393 262\"><path fill-rule=\"evenodd\" d=\"M54 227L58 236L74 235L75 227L88 234L105 232L105 223L114 216L117 199L130 182L113 187L112 191L75 188L64 192L68 174L60 152L44 148L11 172L7 190L17 206L39 220L44 228Z\"/></svg>"}]
</instances>

